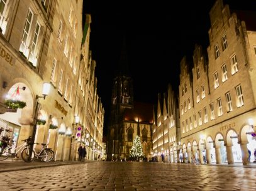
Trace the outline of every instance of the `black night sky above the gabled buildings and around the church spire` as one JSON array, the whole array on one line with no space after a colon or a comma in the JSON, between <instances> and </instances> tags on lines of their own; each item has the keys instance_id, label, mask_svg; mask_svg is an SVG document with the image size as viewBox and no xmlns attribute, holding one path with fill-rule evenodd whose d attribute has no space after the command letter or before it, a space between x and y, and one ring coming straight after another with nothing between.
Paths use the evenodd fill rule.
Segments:
<instances>
[{"instance_id":1,"label":"black night sky above the gabled buildings and around the church spire","mask_svg":"<svg viewBox=\"0 0 256 191\"><path fill-rule=\"evenodd\" d=\"M182 57L192 59L196 43L207 48L209 11L214 2L84 0L83 14L92 16L90 49L96 60L97 93L106 111L105 120L109 118L114 68L120 59L123 36L134 100L155 104L157 94L167 91L168 83L178 88ZM230 9L256 6L255 0L223 2Z\"/></svg>"}]
</instances>

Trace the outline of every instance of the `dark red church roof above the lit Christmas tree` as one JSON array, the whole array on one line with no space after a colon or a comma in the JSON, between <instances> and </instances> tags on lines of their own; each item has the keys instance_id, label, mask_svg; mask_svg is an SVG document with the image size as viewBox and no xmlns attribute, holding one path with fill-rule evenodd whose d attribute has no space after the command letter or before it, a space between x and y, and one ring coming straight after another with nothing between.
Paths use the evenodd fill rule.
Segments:
<instances>
[{"instance_id":1,"label":"dark red church roof above the lit Christmas tree","mask_svg":"<svg viewBox=\"0 0 256 191\"><path fill-rule=\"evenodd\" d=\"M124 115L125 121L138 121L152 123L153 121L153 104L134 102L133 110L126 109Z\"/></svg>"}]
</instances>

